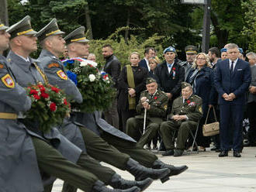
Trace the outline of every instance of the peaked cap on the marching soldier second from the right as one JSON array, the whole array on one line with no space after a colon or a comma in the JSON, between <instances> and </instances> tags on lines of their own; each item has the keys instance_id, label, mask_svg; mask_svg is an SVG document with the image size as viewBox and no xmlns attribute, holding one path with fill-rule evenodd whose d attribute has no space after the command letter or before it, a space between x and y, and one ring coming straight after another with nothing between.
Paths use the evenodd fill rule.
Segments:
<instances>
[{"instance_id":1,"label":"peaked cap on the marching soldier second from the right","mask_svg":"<svg viewBox=\"0 0 256 192\"><path fill-rule=\"evenodd\" d=\"M57 26L57 19L52 19L47 26L43 27L37 34L36 37L39 41L43 41L43 39L47 38L48 36L56 36L64 34L61 29Z\"/></svg>"}]
</instances>

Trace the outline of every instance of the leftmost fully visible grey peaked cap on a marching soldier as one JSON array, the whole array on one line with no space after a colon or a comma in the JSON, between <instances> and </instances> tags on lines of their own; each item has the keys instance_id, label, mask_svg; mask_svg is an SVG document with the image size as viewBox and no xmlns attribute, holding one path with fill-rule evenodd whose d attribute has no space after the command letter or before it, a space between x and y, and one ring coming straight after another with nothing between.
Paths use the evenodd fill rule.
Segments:
<instances>
[{"instance_id":1,"label":"leftmost fully visible grey peaked cap on a marching soldier","mask_svg":"<svg viewBox=\"0 0 256 192\"><path fill-rule=\"evenodd\" d=\"M30 16L26 15L22 20L9 27L6 32L10 33L11 39L22 35L35 35L37 32L31 27Z\"/></svg>"}]
</instances>

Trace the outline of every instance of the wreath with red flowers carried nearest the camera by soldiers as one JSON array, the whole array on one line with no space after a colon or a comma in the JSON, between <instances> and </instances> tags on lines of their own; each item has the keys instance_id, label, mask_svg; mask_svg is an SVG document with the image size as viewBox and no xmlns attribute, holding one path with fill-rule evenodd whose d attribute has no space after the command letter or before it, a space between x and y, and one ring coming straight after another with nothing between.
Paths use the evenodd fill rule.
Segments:
<instances>
[{"instance_id":1,"label":"wreath with red flowers carried nearest the camera by soldiers","mask_svg":"<svg viewBox=\"0 0 256 192\"><path fill-rule=\"evenodd\" d=\"M48 132L69 115L71 106L61 89L50 84L36 84L26 90L32 101L30 110L26 111L26 119L39 122L41 131Z\"/></svg>"}]
</instances>

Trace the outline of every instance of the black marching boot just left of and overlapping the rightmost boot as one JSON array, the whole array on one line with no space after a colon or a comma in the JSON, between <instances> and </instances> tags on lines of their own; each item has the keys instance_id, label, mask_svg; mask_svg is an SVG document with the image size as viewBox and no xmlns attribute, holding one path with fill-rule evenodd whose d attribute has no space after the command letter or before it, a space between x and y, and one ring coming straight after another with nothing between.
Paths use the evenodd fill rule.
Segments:
<instances>
[{"instance_id":1,"label":"black marching boot just left of and overlapping the rightmost boot","mask_svg":"<svg viewBox=\"0 0 256 192\"><path fill-rule=\"evenodd\" d=\"M147 177L158 180L168 176L170 173L167 168L154 170L140 165L140 163L131 158L127 161L126 170L135 177L135 180L145 180Z\"/></svg>"}]
</instances>

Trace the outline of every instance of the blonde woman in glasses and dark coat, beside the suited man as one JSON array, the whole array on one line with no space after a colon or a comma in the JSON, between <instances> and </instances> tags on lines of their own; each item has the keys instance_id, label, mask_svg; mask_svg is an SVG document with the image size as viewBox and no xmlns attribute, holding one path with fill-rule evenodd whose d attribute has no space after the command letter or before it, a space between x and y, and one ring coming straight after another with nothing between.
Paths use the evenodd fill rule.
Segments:
<instances>
[{"instance_id":1,"label":"blonde woman in glasses and dark coat, beside the suited man","mask_svg":"<svg viewBox=\"0 0 256 192\"><path fill-rule=\"evenodd\" d=\"M197 144L199 151L205 151L209 147L210 138L202 135L202 125L206 121L206 115L209 108L214 104L214 82L213 69L209 63L209 57L206 53L198 53L192 65L192 70L186 80L193 87L193 94L202 98L202 118L199 122L199 132L197 136Z\"/></svg>"}]
</instances>

